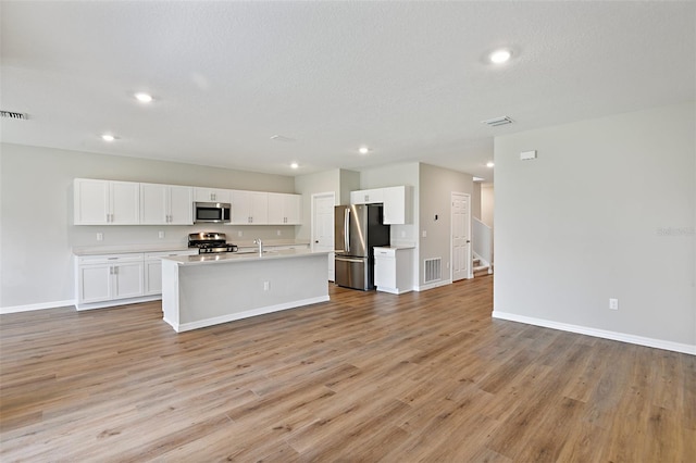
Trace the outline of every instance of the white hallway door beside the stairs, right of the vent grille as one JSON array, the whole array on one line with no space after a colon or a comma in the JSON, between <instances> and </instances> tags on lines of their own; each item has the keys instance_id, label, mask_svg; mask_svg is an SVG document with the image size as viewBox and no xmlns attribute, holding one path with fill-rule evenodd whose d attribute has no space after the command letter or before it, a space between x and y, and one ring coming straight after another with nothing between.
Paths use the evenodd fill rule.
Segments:
<instances>
[{"instance_id":1,"label":"white hallway door beside the stairs, right of the vent grille","mask_svg":"<svg viewBox=\"0 0 696 463\"><path fill-rule=\"evenodd\" d=\"M452 192L452 281L471 278L471 196Z\"/></svg>"}]
</instances>

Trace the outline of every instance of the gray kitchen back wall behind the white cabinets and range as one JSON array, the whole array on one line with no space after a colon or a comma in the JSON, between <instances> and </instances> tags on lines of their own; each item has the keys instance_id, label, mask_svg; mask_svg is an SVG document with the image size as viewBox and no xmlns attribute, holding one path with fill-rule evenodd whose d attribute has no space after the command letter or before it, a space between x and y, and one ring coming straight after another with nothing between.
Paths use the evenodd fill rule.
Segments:
<instances>
[{"instance_id":1,"label":"gray kitchen back wall behind the white cabinets and range","mask_svg":"<svg viewBox=\"0 0 696 463\"><path fill-rule=\"evenodd\" d=\"M224 232L233 242L295 239L294 226L72 225L75 177L295 192L289 176L8 143L0 149L0 308L72 300L74 246L185 245L200 229ZM98 232L103 241L96 240Z\"/></svg>"}]
</instances>

